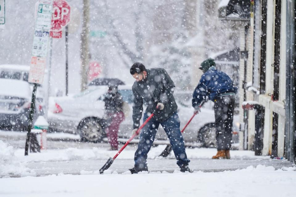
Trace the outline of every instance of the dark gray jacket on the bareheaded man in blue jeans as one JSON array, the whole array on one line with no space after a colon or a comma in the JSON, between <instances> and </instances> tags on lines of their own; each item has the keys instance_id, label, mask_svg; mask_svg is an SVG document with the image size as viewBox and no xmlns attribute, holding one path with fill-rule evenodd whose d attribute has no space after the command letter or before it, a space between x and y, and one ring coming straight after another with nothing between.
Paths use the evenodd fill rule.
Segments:
<instances>
[{"instance_id":1,"label":"dark gray jacket on the bareheaded man in blue jeans","mask_svg":"<svg viewBox=\"0 0 296 197\"><path fill-rule=\"evenodd\" d=\"M155 113L155 118L162 122L177 111L173 96L175 84L162 68L147 69L147 77L140 82L135 81L132 87L134 93L133 128L140 126L143 112L143 100L147 104L146 113L153 113L157 103L162 103L164 109Z\"/></svg>"}]
</instances>

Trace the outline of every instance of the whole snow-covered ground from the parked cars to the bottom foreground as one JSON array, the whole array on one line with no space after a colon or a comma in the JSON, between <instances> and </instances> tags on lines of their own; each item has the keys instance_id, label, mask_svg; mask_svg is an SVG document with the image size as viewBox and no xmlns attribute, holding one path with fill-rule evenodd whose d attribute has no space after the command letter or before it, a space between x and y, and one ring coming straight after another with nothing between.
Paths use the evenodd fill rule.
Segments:
<instances>
[{"instance_id":1,"label":"whole snow-covered ground from the parked cars to the bottom foreground","mask_svg":"<svg viewBox=\"0 0 296 197\"><path fill-rule=\"evenodd\" d=\"M148 154L150 172L131 175L127 170L136 148L131 144L100 175L117 153L107 151L107 143L48 140L47 150L24 156L23 133L0 131L0 136L6 150L0 155L1 196L294 196L286 188L296 184L295 165L253 151L231 151L232 159L213 160L216 149L187 148L194 172L181 173L172 154L158 157L165 148L159 145Z\"/></svg>"}]
</instances>

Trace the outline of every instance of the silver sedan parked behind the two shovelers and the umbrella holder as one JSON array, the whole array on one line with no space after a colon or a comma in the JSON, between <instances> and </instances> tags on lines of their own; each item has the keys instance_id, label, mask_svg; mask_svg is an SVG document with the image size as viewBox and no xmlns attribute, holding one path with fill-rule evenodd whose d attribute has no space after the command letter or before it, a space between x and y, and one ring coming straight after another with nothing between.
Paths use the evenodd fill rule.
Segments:
<instances>
[{"instance_id":1,"label":"silver sedan parked behind the two shovelers and the umbrella holder","mask_svg":"<svg viewBox=\"0 0 296 197\"><path fill-rule=\"evenodd\" d=\"M107 92L107 86L98 86L96 89L85 90L79 94L68 97L53 97L50 99L48 121L52 131L70 132L79 134L81 140L91 142L101 142L105 139L104 128L107 126L104 120L103 95ZM131 85L118 86L118 91L123 96L125 105L125 120L120 125L118 133L122 142L130 137L132 131L132 105L133 93ZM181 130L193 115L194 109L191 107L191 93L174 93L178 104L178 114L181 121ZM145 110L145 107L144 107ZM201 112L188 125L183 132L183 137L187 145L215 147L215 116L212 103L208 102L201 109ZM142 123L142 120L141 120ZM234 130L238 128L234 127ZM234 141L237 142L238 135L234 132ZM165 141L164 141L165 140ZM160 126L155 137L155 143L167 144L167 135ZM195 144L195 145L194 145Z\"/></svg>"}]
</instances>

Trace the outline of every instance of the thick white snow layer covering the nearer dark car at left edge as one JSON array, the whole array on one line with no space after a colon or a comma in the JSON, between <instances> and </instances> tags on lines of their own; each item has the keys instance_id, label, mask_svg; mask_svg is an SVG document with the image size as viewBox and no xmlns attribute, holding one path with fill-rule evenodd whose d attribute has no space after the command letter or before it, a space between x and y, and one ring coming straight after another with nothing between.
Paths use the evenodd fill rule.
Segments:
<instances>
[{"instance_id":1,"label":"thick white snow layer covering the nearer dark car at left edge","mask_svg":"<svg viewBox=\"0 0 296 197\"><path fill-rule=\"evenodd\" d=\"M21 80L0 79L0 95L31 98L30 84Z\"/></svg>"}]
</instances>

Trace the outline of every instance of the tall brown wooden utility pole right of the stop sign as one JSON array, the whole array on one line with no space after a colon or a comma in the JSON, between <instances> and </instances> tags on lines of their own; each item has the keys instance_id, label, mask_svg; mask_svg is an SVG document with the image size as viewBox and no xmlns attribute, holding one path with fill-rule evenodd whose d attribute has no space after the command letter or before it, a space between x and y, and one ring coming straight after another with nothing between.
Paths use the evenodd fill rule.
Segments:
<instances>
[{"instance_id":1,"label":"tall brown wooden utility pole right of the stop sign","mask_svg":"<svg viewBox=\"0 0 296 197\"><path fill-rule=\"evenodd\" d=\"M89 0L83 0L83 24L81 33L81 91L86 89L88 79L88 63L89 63L89 51L88 51L88 23L89 23Z\"/></svg>"}]
</instances>

